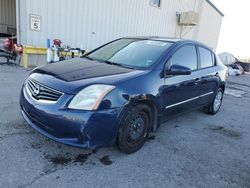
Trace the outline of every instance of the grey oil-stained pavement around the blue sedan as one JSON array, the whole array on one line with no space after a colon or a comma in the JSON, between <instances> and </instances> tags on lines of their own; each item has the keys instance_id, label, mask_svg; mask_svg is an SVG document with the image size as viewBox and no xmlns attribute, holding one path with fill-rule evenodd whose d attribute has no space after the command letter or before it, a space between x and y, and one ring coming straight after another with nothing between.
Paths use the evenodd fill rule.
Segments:
<instances>
[{"instance_id":1,"label":"grey oil-stained pavement around the blue sedan","mask_svg":"<svg viewBox=\"0 0 250 188\"><path fill-rule=\"evenodd\" d=\"M33 131L18 104L28 73L0 66L0 187L250 187L250 75L229 78L217 115L168 121L125 155L64 146Z\"/></svg>"}]
</instances>

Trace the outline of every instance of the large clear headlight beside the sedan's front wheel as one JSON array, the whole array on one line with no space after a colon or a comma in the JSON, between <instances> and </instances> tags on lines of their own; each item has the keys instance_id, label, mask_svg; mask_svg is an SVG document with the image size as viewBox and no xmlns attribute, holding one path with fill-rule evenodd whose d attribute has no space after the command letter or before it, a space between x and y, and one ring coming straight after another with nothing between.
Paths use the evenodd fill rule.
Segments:
<instances>
[{"instance_id":1,"label":"large clear headlight beside the sedan's front wheel","mask_svg":"<svg viewBox=\"0 0 250 188\"><path fill-rule=\"evenodd\" d=\"M81 90L70 102L68 108L96 110L103 98L115 88L112 85L95 84Z\"/></svg>"}]
</instances>

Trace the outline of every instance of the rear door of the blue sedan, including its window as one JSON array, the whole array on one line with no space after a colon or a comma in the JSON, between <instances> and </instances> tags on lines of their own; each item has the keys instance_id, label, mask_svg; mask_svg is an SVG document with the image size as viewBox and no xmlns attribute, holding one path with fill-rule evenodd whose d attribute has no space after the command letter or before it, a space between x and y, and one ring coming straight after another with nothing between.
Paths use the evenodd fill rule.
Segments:
<instances>
[{"instance_id":1,"label":"rear door of the blue sedan, including its window","mask_svg":"<svg viewBox=\"0 0 250 188\"><path fill-rule=\"evenodd\" d=\"M200 96L198 102L199 105L208 104L217 88L219 79L219 73L216 68L216 61L214 53L205 47L198 46L199 54L199 90L198 95Z\"/></svg>"}]
</instances>

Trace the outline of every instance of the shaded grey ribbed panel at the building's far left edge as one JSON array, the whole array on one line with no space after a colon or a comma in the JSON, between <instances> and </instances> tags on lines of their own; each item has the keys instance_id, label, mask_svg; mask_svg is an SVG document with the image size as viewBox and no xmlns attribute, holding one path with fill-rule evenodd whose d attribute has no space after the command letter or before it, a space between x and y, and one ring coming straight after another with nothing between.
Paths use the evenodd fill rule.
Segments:
<instances>
[{"instance_id":1,"label":"shaded grey ribbed panel at the building's far left edge","mask_svg":"<svg viewBox=\"0 0 250 188\"><path fill-rule=\"evenodd\" d=\"M16 0L0 0L0 33L11 32L15 28Z\"/></svg>"}]
</instances>

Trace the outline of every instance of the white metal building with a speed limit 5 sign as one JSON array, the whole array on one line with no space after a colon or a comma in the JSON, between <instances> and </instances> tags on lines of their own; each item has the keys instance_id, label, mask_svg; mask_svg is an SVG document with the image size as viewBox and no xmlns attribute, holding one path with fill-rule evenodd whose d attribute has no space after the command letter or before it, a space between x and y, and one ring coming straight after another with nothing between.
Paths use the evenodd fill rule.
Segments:
<instances>
[{"instance_id":1,"label":"white metal building with a speed limit 5 sign","mask_svg":"<svg viewBox=\"0 0 250 188\"><path fill-rule=\"evenodd\" d=\"M209 0L0 0L0 32L16 29L19 43L39 49L47 38L91 50L145 35L194 39L216 49L222 18Z\"/></svg>"}]
</instances>

